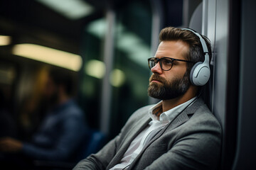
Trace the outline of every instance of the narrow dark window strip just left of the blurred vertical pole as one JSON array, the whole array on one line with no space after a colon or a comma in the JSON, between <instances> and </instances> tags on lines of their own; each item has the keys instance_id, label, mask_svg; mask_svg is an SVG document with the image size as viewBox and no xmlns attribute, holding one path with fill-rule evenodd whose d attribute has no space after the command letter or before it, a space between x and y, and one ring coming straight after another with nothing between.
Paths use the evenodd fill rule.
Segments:
<instances>
[{"instance_id":1,"label":"narrow dark window strip just left of the blurred vertical pole","mask_svg":"<svg viewBox=\"0 0 256 170\"><path fill-rule=\"evenodd\" d=\"M106 24L103 16L91 21L85 26L82 38L84 65L80 70L79 101L92 128L99 128L102 79L105 76L102 50Z\"/></svg>"}]
</instances>

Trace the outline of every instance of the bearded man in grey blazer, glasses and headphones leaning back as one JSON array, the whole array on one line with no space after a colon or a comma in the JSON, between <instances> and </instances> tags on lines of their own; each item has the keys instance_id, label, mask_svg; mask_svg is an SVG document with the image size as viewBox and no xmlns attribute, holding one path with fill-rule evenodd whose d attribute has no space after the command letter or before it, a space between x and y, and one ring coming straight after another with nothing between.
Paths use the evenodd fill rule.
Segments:
<instances>
[{"instance_id":1,"label":"bearded man in grey blazer, glasses and headphones leaning back","mask_svg":"<svg viewBox=\"0 0 256 170\"><path fill-rule=\"evenodd\" d=\"M149 58L148 94L117 137L80 161L82 169L218 169L221 127L200 98L210 77L209 40L188 28L164 28Z\"/></svg>"}]
</instances>

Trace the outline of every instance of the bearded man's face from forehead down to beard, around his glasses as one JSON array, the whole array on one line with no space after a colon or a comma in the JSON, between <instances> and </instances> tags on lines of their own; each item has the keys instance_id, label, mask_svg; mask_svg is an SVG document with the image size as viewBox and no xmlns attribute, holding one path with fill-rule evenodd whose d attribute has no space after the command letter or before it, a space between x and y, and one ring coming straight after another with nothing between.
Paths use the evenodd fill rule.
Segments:
<instances>
[{"instance_id":1,"label":"bearded man's face from forehead down to beard, around his glasses","mask_svg":"<svg viewBox=\"0 0 256 170\"><path fill-rule=\"evenodd\" d=\"M182 41L164 41L159 44L156 58L171 57L186 60L183 56L188 51L188 45ZM182 96L190 86L189 74L186 72L186 62L174 61L169 71L161 69L157 63L151 69L153 73L149 79L148 94L161 100L168 100Z\"/></svg>"}]
</instances>

